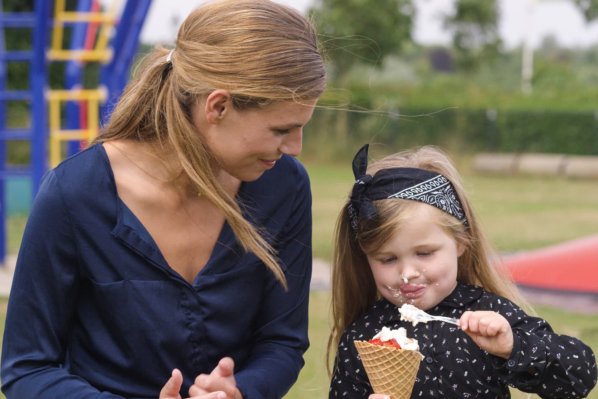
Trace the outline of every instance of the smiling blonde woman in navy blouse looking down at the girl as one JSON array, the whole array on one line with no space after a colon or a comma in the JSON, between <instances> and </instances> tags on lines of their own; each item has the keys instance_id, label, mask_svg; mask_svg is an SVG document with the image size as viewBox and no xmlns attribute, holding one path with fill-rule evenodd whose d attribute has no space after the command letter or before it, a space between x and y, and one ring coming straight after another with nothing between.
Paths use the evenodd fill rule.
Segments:
<instances>
[{"instance_id":1,"label":"smiling blonde woman in navy blouse looking down at the girl","mask_svg":"<svg viewBox=\"0 0 598 399\"><path fill-rule=\"evenodd\" d=\"M213 2L157 47L87 150L42 181L8 304L2 391L280 398L303 366L313 26Z\"/></svg>"}]
</instances>

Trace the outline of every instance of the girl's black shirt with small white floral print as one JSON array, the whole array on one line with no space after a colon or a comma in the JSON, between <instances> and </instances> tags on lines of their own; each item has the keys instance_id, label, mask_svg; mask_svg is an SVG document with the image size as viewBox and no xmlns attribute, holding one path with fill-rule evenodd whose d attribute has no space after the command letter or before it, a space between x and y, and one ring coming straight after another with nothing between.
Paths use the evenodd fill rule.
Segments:
<instances>
[{"instance_id":1,"label":"girl's black shirt with small white floral print","mask_svg":"<svg viewBox=\"0 0 598 399\"><path fill-rule=\"evenodd\" d=\"M481 287L457 284L427 312L460 318L466 310L493 310L511 324L514 345L508 360L490 355L453 324L401 321L398 308L377 301L347 328L338 345L331 398L373 394L353 340L369 340L382 327L404 327L423 355L411 398L510 398L508 385L542 398L583 398L596 385L596 359L580 340L555 334L543 319L526 315L508 299Z\"/></svg>"}]
</instances>

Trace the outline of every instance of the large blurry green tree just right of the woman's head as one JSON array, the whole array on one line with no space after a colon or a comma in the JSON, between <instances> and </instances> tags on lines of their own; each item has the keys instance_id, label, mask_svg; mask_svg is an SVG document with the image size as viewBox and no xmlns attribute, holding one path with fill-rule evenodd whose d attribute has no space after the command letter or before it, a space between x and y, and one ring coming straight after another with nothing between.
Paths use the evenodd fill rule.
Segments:
<instances>
[{"instance_id":1,"label":"large blurry green tree just right of the woman's head","mask_svg":"<svg viewBox=\"0 0 598 399\"><path fill-rule=\"evenodd\" d=\"M379 65L397 54L411 38L411 0L319 0L310 10L325 35L337 84L346 85L351 67L359 62Z\"/></svg>"}]
</instances>

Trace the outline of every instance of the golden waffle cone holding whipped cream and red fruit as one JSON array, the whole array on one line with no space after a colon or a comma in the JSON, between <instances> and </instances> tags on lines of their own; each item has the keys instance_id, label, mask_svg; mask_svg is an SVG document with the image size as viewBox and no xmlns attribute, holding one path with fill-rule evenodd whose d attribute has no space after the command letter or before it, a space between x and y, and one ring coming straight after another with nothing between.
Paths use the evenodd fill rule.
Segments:
<instances>
[{"instance_id":1,"label":"golden waffle cone holding whipped cream and red fruit","mask_svg":"<svg viewBox=\"0 0 598 399\"><path fill-rule=\"evenodd\" d=\"M376 394L389 395L390 399L408 399L422 355L408 349L373 345L366 341L353 341L370 384Z\"/></svg>"}]
</instances>

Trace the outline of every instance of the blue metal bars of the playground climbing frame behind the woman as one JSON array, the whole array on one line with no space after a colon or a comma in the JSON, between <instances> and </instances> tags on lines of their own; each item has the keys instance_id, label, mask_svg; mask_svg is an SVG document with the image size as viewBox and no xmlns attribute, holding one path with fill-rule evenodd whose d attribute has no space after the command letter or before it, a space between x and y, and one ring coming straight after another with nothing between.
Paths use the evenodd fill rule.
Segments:
<instances>
[{"instance_id":1,"label":"blue metal bars of the playground climbing frame behind the woman","mask_svg":"<svg viewBox=\"0 0 598 399\"><path fill-rule=\"evenodd\" d=\"M4 264L6 252L6 206L5 180L10 176L31 176L32 198L35 198L39 182L48 170L48 121L45 89L47 86L46 48L50 39L53 13L53 1L34 0L33 13L2 13L0 0L0 264ZM121 16L117 33L112 39L114 57L100 71L100 82L108 88L108 105L102 107L102 121L108 117L114 105L114 98L120 97L129 79L139 44L139 33L144 23L151 0L128 0ZM78 11L89 11L91 0L78 0ZM4 48L4 28L33 28L32 49L6 51ZM75 23L71 35L71 48L82 48L86 23ZM28 61L29 90L7 90L7 62ZM67 89L83 83L83 64L68 62L65 70ZM111 102L111 99L113 100ZM28 100L30 102L30 129L7 129L4 102L10 100ZM69 129L80 127L77 103L68 103L67 124ZM31 165L29 169L8 169L5 165L7 140L30 140ZM74 146L77 146L76 148ZM78 143L71 145L69 153L78 151Z\"/></svg>"}]
</instances>

